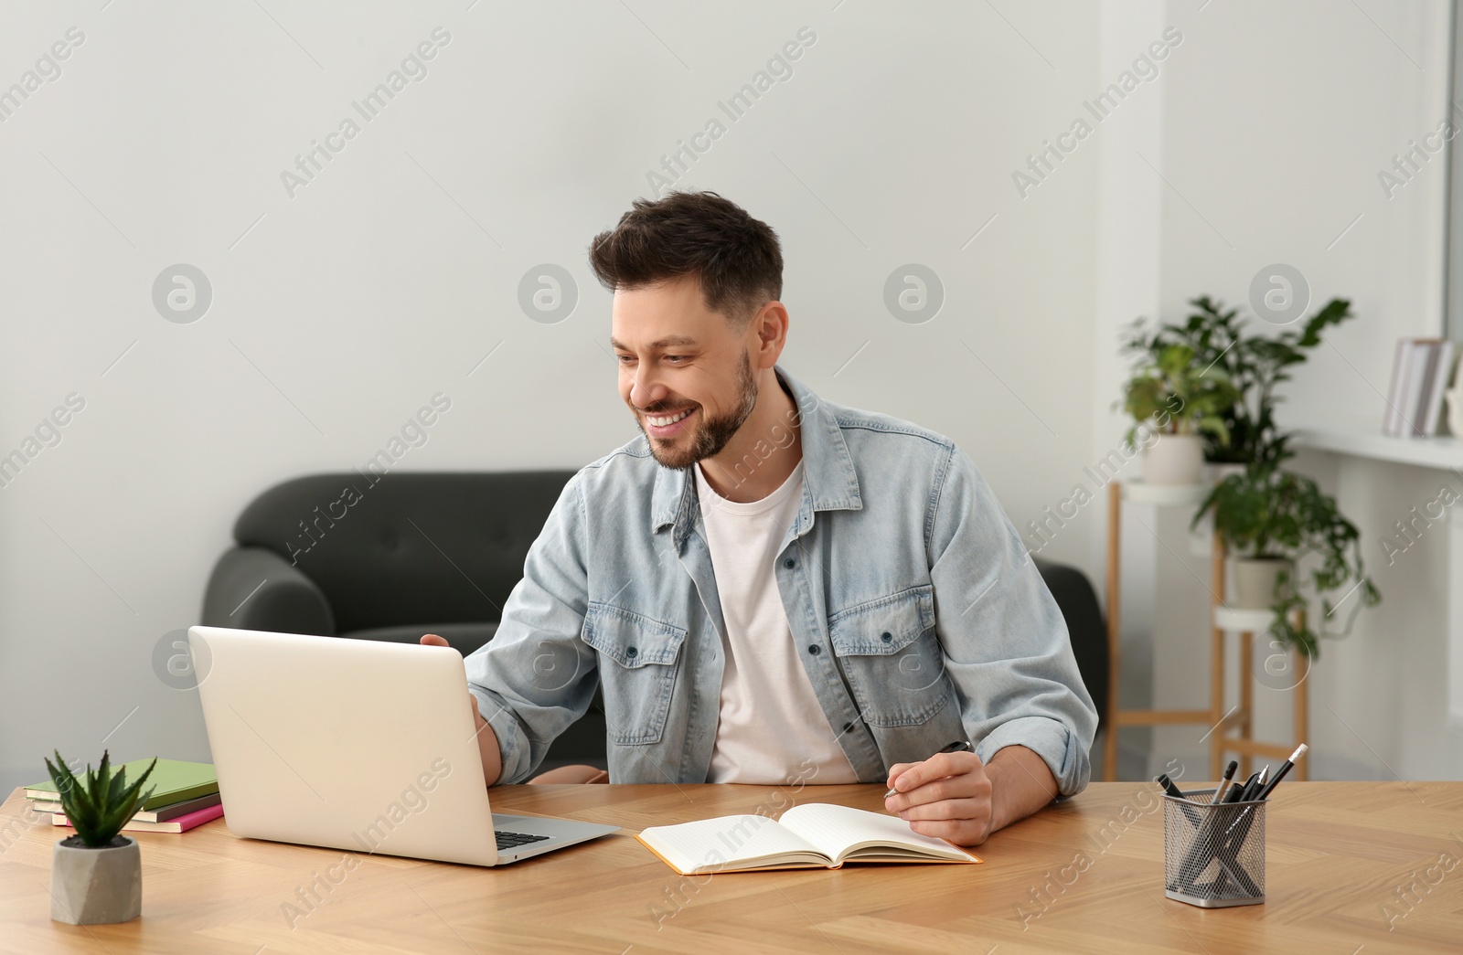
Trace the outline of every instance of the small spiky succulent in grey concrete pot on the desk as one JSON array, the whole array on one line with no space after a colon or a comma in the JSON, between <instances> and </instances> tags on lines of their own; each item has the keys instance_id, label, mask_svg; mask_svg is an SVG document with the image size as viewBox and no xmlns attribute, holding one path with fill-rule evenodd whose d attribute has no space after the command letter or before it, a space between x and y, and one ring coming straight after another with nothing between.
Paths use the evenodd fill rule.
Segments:
<instances>
[{"instance_id":1,"label":"small spiky succulent in grey concrete pot on the desk","mask_svg":"<svg viewBox=\"0 0 1463 955\"><path fill-rule=\"evenodd\" d=\"M66 820L76 835L60 839L51 853L51 918L73 926L130 921L142 913L142 854L138 841L120 835L138 804L152 794L142 784L158 765L154 759L130 785L127 771L111 772L105 750L97 772L88 763L82 780L60 752L45 760Z\"/></svg>"}]
</instances>

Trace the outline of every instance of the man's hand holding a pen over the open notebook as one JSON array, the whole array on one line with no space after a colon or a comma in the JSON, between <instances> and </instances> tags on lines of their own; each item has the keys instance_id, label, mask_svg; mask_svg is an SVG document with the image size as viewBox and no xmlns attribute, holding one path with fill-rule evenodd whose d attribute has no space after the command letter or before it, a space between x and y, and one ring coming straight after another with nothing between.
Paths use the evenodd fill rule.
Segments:
<instances>
[{"instance_id":1,"label":"man's hand holding a pen over the open notebook","mask_svg":"<svg viewBox=\"0 0 1463 955\"><path fill-rule=\"evenodd\" d=\"M980 845L992 832L1026 819L1056 796L1046 762L1024 746L1005 746L982 765L974 753L939 753L925 762L895 763L884 800L920 835L955 845Z\"/></svg>"}]
</instances>

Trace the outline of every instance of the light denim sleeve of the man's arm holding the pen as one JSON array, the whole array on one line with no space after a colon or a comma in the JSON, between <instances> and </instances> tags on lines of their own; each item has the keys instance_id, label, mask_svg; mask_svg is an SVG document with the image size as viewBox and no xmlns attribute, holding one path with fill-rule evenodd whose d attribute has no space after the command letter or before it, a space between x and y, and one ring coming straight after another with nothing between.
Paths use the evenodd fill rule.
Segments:
<instances>
[{"instance_id":1,"label":"light denim sleeve of the man's arm holding the pen","mask_svg":"<svg viewBox=\"0 0 1463 955\"><path fill-rule=\"evenodd\" d=\"M936 627L976 753L989 763L1007 746L1026 746L1046 762L1062 796L1080 793L1091 775L1097 709L1056 601L958 448L932 502Z\"/></svg>"}]
</instances>

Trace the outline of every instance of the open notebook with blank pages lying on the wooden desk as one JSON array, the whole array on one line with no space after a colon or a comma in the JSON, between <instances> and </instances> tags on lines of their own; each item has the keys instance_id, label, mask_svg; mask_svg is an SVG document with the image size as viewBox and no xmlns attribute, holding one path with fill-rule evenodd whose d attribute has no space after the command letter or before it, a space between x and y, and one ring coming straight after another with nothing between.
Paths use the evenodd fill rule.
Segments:
<instances>
[{"instance_id":1,"label":"open notebook with blank pages lying on the wooden desk","mask_svg":"<svg viewBox=\"0 0 1463 955\"><path fill-rule=\"evenodd\" d=\"M767 816L718 816L639 834L683 876L759 869L837 869L859 863L979 863L966 850L917 832L898 816L809 803Z\"/></svg>"}]
</instances>

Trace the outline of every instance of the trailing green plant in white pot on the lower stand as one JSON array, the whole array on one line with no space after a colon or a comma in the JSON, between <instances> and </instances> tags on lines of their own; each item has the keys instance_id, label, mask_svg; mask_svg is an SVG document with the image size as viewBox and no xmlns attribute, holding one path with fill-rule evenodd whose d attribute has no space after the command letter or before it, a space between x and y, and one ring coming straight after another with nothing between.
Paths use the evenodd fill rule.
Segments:
<instances>
[{"instance_id":1,"label":"trailing green plant in white pot on the lower stand","mask_svg":"<svg viewBox=\"0 0 1463 955\"><path fill-rule=\"evenodd\" d=\"M1214 486L1194 515L1197 525L1213 512L1214 529L1233 548L1235 600L1238 608L1274 611L1270 636L1306 657L1321 652L1309 622L1296 626L1292 610L1306 605L1301 594L1299 563L1320 556L1309 582L1321 597L1323 619L1336 607L1327 597L1346 586L1342 601L1361 592L1359 605L1372 607L1381 594L1362 567L1361 534L1308 477L1279 465L1252 464ZM1347 586L1349 585L1349 586ZM1339 604L1337 604L1339 605ZM1323 627L1324 630L1324 627Z\"/></svg>"}]
</instances>

